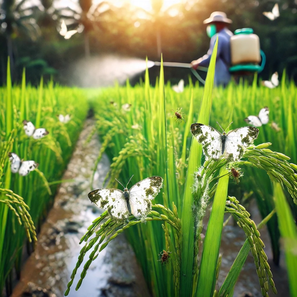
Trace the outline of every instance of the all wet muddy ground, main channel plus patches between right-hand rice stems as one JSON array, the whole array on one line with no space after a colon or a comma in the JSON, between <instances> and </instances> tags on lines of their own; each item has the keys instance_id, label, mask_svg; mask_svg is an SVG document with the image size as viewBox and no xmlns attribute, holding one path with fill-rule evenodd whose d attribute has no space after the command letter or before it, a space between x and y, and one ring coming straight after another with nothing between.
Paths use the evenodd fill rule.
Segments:
<instances>
[{"instance_id":1,"label":"all wet muddy ground, main channel plus patches between right-hand rice stems","mask_svg":"<svg viewBox=\"0 0 297 297\"><path fill-rule=\"evenodd\" d=\"M96 135L89 143L86 139L94 127L94 120L87 119L80 134L76 149L72 155L59 188L53 208L42 225L37 247L23 265L21 278L12 293L12 297L62 297L67 288L73 268L78 259L81 236L91 222L102 213L88 199L92 168L97 158L100 143ZM98 164L94 178L94 189L102 187L109 170L109 160L104 155ZM249 209L256 223L260 215L256 205ZM205 217L204 233L208 216ZM279 296L289 296L284 257L279 267L272 262L271 247L266 228L260 229L261 238L266 243L265 252L274 276ZM239 249L246 240L240 228L230 223L222 234L222 265L219 273L219 286L222 285ZM88 257L85 257L87 260ZM83 265L82 265L83 266ZM78 282L78 271L74 284ZM70 297L149 297L143 274L137 264L134 252L124 235L116 237L107 248L99 253L92 263L78 291L73 286ZM259 280L255 273L254 259L249 254L234 290L234 297L260 297Z\"/></svg>"}]
</instances>

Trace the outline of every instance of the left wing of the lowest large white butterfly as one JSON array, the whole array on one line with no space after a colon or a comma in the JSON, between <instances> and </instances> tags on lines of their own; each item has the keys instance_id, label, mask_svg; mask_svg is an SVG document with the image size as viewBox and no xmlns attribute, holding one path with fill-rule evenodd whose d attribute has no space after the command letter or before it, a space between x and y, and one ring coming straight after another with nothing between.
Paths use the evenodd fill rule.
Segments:
<instances>
[{"instance_id":1,"label":"left wing of the lowest large white butterfly","mask_svg":"<svg viewBox=\"0 0 297 297\"><path fill-rule=\"evenodd\" d=\"M124 220L129 217L127 202L124 193L118 189L99 189L88 194L91 202L106 209L111 217Z\"/></svg>"}]
</instances>

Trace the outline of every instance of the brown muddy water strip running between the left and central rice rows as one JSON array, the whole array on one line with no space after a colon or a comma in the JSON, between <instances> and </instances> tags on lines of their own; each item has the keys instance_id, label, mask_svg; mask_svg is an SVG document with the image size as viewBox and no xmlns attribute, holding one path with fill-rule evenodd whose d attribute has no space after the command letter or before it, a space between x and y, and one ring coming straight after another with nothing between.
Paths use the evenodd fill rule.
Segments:
<instances>
[{"instance_id":1,"label":"brown muddy water strip running between the left and central rice rows","mask_svg":"<svg viewBox=\"0 0 297 297\"><path fill-rule=\"evenodd\" d=\"M101 213L87 196L94 162L100 149L96 136L85 144L93 127L94 121L88 119L63 176L63 179L74 181L61 184L54 206L42 225L37 247L23 266L20 282L12 297L64 296L82 247L79 245L80 238ZM97 167L93 184L95 189L102 187L108 169L108 158L103 156ZM68 295L70 297L149 296L134 252L123 236L115 238L99 253L80 289L75 291L81 271L77 272Z\"/></svg>"}]
</instances>

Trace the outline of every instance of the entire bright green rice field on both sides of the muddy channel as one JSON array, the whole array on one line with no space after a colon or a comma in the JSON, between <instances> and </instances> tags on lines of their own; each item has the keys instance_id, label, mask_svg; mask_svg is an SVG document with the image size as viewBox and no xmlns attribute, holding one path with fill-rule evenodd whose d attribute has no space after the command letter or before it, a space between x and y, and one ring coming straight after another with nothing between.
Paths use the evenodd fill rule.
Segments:
<instances>
[{"instance_id":1,"label":"entire bright green rice field on both sides of the muddy channel","mask_svg":"<svg viewBox=\"0 0 297 297\"><path fill-rule=\"evenodd\" d=\"M296 86L283 73L280 86L275 89L257 86L256 78L251 86L240 82L225 89L213 89L214 64L212 58L204 89L190 82L182 93L174 92L170 84L164 85L162 66L154 87L146 70L145 81L138 86L132 87L129 82L125 87L116 85L88 100L83 90L53 84L43 86L42 81L37 89L25 86L24 80L20 87L7 82L0 93L3 98L0 127L4 131L1 140L5 143L0 151L4 164L0 181L1 192L6 191L8 196L1 197L8 197L5 199L12 201L14 209L18 209L20 201L26 203L30 210L24 204L22 209L27 209L33 222L28 219L25 228L18 225L16 211L0 200L5 223L0 234L0 257L9 262L2 265L0 261L2 287L5 281L10 283L11 269L20 263L26 233L32 241L35 239L33 223L37 228L53 201L77 131L91 107L97 119L93 133L99 135L102 143L97 161L105 152L112 162L105 179L106 188L123 190L116 179L126 185L132 177L129 189L151 176L162 177L163 187L145 217L130 215L125 220L115 220L105 211L93 221L81 238L81 253L65 295L71 296L75 286L79 290L98 252L125 231L152 296L232 296L249 251L255 259L262 295L272 296L277 288L260 237L260 228L267 224L275 263L279 261L279 239L285 243L290 293L297 296L294 281L297 257L292 248L297 245ZM229 127L232 130L246 126L244 119L258 115L266 106L270 111L269 123L259 127L254 145L247 147L240 160L205 159L201 145L192 137L191 124L198 122L219 130L216 122L223 129L233 122ZM69 123L61 123L56 117L59 114L70 114ZM35 127L46 128L49 134L39 140L28 138L23 131L23 119L32 121ZM28 176L15 175L10 172L8 152L40 165ZM237 175L232 168L236 168ZM10 190L23 200L19 196L13 198ZM251 198L257 200L263 217L258 226L247 211ZM203 238L203 218L209 207L211 215ZM222 261L219 248L224 222L229 216L244 231L247 240L224 283L218 287ZM27 213L19 213L19 217L28 218ZM90 249L89 260L81 268ZM73 283L76 273L80 274L77 284Z\"/></svg>"}]
</instances>

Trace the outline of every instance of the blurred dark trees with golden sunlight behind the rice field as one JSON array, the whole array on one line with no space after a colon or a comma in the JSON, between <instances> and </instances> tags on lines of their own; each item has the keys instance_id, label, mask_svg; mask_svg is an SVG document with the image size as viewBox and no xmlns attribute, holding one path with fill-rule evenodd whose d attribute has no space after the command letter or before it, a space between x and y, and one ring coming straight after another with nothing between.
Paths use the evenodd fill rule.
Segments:
<instances>
[{"instance_id":1,"label":"blurred dark trees with golden sunlight behind the rice field","mask_svg":"<svg viewBox=\"0 0 297 297\"><path fill-rule=\"evenodd\" d=\"M60 1L67 4L67 1ZM263 11L271 11L275 1L255 0L188 0L166 10L162 1L152 0L152 12L113 1L92 4L79 0L74 7L58 7L52 0L2 0L0 10L0 83L5 83L7 56L11 57L15 82L23 67L26 78L36 84L43 75L62 84L69 81L69 65L90 56L115 53L159 61L186 62L203 56L209 38L203 20L213 11L224 11L233 20L230 30L249 27L260 38L267 62L260 76L270 78L284 69L297 81L297 1L279 0L280 16L274 21ZM69 2L70 4L70 2ZM61 20L68 30L80 33L65 40L60 34ZM156 69L154 69L156 68ZM116 69L113 69L116 71ZM159 72L153 67L150 75ZM165 80L187 80L188 69L166 69ZM138 80L139 78L137 78ZM152 80L153 81L153 80Z\"/></svg>"}]
</instances>

